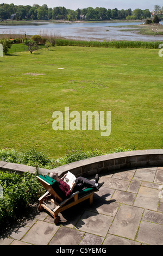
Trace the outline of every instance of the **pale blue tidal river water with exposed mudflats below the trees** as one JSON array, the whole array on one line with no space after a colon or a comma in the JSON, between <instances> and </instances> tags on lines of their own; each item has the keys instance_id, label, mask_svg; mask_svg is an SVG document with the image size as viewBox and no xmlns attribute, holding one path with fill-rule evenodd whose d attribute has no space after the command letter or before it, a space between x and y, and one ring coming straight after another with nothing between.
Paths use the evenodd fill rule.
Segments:
<instances>
[{"instance_id":1,"label":"pale blue tidal river water with exposed mudflats below the trees","mask_svg":"<svg viewBox=\"0 0 163 256\"><path fill-rule=\"evenodd\" d=\"M0 34L24 34L62 36L68 39L80 40L130 40L130 41L163 41L162 35L141 35L138 28L129 25L140 25L143 22L97 22L97 23L52 23L33 22L30 25L2 26ZM160 22L162 27L163 22ZM120 27L121 26L121 27ZM126 31L129 29L129 31Z\"/></svg>"}]
</instances>

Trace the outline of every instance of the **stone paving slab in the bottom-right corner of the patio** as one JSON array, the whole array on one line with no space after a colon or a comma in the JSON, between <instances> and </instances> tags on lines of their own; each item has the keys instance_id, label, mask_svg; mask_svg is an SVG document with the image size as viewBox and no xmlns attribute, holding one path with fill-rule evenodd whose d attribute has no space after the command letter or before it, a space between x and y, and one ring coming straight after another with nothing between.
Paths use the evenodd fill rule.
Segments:
<instances>
[{"instance_id":1,"label":"stone paving slab in the bottom-right corner of the patio","mask_svg":"<svg viewBox=\"0 0 163 256\"><path fill-rule=\"evenodd\" d=\"M163 245L163 225L141 221L136 240L148 245Z\"/></svg>"}]
</instances>

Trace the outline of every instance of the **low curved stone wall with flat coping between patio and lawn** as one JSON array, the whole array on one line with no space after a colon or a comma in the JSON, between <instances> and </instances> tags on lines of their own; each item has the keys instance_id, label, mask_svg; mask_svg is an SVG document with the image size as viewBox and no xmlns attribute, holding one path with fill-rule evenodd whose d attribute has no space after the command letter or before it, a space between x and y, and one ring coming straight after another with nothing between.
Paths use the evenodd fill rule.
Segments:
<instances>
[{"instance_id":1,"label":"low curved stone wall with flat coping between patio and lawn","mask_svg":"<svg viewBox=\"0 0 163 256\"><path fill-rule=\"evenodd\" d=\"M40 173L48 174L57 171L60 176L72 172L76 176L89 176L96 173L112 172L125 168L149 166L163 166L163 149L126 151L121 153L96 156L90 159L65 164L52 170L40 168ZM1 170L11 170L13 172L35 173L36 168L17 163L0 161Z\"/></svg>"}]
</instances>

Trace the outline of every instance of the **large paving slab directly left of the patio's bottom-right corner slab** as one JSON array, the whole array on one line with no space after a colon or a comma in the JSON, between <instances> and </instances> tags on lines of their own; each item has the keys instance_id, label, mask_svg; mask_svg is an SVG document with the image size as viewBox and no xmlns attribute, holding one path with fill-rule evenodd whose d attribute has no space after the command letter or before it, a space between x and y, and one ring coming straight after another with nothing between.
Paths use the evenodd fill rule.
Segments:
<instances>
[{"instance_id":1,"label":"large paving slab directly left of the patio's bottom-right corner slab","mask_svg":"<svg viewBox=\"0 0 163 256\"><path fill-rule=\"evenodd\" d=\"M141 221L143 209L130 205L121 205L112 223L109 234L135 239L137 227Z\"/></svg>"}]
</instances>

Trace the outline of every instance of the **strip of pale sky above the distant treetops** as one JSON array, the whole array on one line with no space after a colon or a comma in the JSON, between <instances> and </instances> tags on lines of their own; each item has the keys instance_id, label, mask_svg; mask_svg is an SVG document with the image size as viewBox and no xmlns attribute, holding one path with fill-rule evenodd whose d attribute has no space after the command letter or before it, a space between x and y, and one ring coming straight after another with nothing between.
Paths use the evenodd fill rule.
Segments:
<instances>
[{"instance_id":1,"label":"strip of pale sky above the distant treetops","mask_svg":"<svg viewBox=\"0 0 163 256\"><path fill-rule=\"evenodd\" d=\"M33 5L39 4L40 6L43 4L47 4L48 8L53 7L65 7L66 9L77 10L87 8L87 7L104 7L106 9L114 9L117 8L118 10L121 9L129 9L135 10L139 9L149 9L152 11L154 9L154 5L160 5L162 7L163 2L162 0L0 0L0 3L7 3L11 4L14 3L15 5Z\"/></svg>"}]
</instances>

